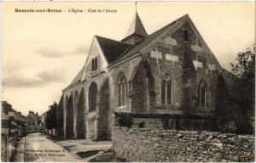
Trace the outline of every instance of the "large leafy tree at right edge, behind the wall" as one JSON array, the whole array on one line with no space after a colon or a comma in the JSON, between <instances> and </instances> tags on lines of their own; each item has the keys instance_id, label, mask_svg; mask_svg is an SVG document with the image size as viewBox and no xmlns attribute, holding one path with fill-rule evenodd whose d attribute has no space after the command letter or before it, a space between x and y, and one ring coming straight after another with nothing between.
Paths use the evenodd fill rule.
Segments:
<instances>
[{"instance_id":1,"label":"large leafy tree at right edge, behind the wall","mask_svg":"<svg viewBox=\"0 0 256 163\"><path fill-rule=\"evenodd\" d=\"M255 102L255 44L253 45L253 50L247 48L246 52L239 52L236 62L236 64L230 64L231 71L241 79L237 89L239 89L241 98L245 103L246 112L253 114Z\"/></svg>"}]
</instances>

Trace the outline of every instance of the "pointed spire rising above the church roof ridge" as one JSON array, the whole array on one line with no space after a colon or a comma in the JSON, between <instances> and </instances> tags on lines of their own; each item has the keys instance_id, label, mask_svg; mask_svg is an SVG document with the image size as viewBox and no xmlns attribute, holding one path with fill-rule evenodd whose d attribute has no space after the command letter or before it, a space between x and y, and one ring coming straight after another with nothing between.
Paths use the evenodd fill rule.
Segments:
<instances>
[{"instance_id":1,"label":"pointed spire rising above the church roof ridge","mask_svg":"<svg viewBox=\"0 0 256 163\"><path fill-rule=\"evenodd\" d=\"M148 37L148 33L144 28L143 22L140 19L139 15L135 14L135 18L132 20L131 25L125 35L125 38L130 37L133 34L137 34L143 37ZM125 40L125 38L123 40Z\"/></svg>"}]
</instances>

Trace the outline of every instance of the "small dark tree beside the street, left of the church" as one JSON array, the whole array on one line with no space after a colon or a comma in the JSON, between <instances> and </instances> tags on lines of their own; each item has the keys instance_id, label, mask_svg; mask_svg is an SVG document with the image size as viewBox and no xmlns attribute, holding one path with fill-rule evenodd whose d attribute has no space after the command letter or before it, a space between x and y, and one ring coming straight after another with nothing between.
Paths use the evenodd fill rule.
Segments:
<instances>
[{"instance_id":1,"label":"small dark tree beside the street, left of the church","mask_svg":"<svg viewBox=\"0 0 256 163\"><path fill-rule=\"evenodd\" d=\"M48 130L54 129L56 127L56 110L58 104L54 102L54 104L49 106L49 110L47 111L47 115L45 118L45 126Z\"/></svg>"}]
</instances>

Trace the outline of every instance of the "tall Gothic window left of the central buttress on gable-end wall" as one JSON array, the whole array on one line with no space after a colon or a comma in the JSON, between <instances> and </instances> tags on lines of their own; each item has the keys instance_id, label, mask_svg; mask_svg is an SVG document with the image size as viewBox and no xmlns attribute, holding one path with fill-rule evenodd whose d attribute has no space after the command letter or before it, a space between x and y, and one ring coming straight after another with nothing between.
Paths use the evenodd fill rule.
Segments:
<instances>
[{"instance_id":1,"label":"tall Gothic window left of the central buttress on gable-end wall","mask_svg":"<svg viewBox=\"0 0 256 163\"><path fill-rule=\"evenodd\" d=\"M161 82L161 102L172 104L172 81L169 74L166 74Z\"/></svg>"}]
</instances>

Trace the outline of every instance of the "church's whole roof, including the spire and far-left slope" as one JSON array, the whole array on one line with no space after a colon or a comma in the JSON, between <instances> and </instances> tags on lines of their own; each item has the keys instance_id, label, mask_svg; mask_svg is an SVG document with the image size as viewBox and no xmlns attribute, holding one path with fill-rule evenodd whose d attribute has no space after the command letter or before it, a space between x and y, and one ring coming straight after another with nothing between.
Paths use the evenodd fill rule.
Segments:
<instances>
[{"instance_id":1,"label":"church's whole roof, including the spire and far-left slope","mask_svg":"<svg viewBox=\"0 0 256 163\"><path fill-rule=\"evenodd\" d=\"M143 50L143 48L148 46L149 43L153 42L155 38L159 37L167 30L175 30L177 28L177 25L180 25L186 20L190 20L188 14L183 15L181 18L160 28L160 30L158 31L154 31L154 33L148 36L148 33L145 31L142 21L140 20L138 14L136 13L136 17L132 21L129 30L127 31L125 39L127 37L131 37L131 35L137 34L140 36L144 36L144 38L141 41L133 45L130 45L106 37L96 36L96 40L99 43L100 48L102 48L102 53L105 55L105 58L108 61L108 65L113 66L118 64L122 60L128 59L131 56L140 53ZM79 71L79 74L73 79L73 82L71 82L71 84L68 87L73 85L75 82L81 81L84 72L84 67Z\"/></svg>"}]
</instances>

